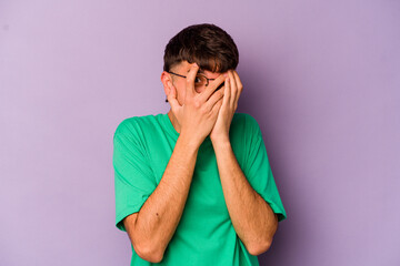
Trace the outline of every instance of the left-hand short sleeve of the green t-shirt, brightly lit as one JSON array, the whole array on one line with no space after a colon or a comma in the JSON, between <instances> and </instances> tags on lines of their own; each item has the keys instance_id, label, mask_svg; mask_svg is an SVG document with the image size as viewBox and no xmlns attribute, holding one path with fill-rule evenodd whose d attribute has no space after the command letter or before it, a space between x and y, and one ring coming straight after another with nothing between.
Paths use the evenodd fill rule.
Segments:
<instances>
[{"instance_id":1,"label":"left-hand short sleeve of the green t-shirt, brightly lit","mask_svg":"<svg viewBox=\"0 0 400 266\"><path fill-rule=\"evenodd\" d=\"M141 131L133 117L122 121L113 136L116 226L121 231L127 231L122 219L139 212L157 187L140 136Z\"/></svg>"}]
</instances>

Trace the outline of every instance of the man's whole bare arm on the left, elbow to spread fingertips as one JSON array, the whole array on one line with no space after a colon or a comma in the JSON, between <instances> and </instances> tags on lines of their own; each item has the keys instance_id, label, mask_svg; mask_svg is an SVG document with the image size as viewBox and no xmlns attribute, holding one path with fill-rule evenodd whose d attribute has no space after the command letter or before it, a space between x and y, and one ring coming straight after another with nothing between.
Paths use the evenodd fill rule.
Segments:
<instances>
[{"instance_id":1,"label":"man's whole bare arm on the left, elbow to spread fingertips","mask_svg":"<svg viewBox=\"0 0 400 266\"><path fill-rule=\"evenodd\" d=\"M180 135L160 183L139 213L124 219L134 250L143 259L153 263L162 260L177 229L188 198L199 147L216 123L222 104L223 90L213 92L223 82L223 75L217 78L202 93L197 93L194 79L198 70L194 63L188 72L183 105L177 100L176 88L171 82L168 84L171 86L168 101L179 121Z\"/></svg>"}]
</instances>

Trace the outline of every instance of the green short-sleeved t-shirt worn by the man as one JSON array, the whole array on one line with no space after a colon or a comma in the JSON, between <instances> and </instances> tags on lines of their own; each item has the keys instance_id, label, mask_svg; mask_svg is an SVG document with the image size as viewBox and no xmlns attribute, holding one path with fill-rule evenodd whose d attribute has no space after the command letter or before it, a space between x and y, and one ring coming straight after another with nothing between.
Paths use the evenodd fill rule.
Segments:
<instances>
[{"instance_id":1,"label":"green short-sleeved t-shirt worn by the man","mask_svg":"<svg viewBox=\"0 0 400 266\"><path fill-rule=\"evenodd\" d=\"M286 211L257 121L249 114L234 113L229 134L233 153L249 183L270 204L278 219L284 219ZM119 229L126 231L122 219L139 212L160 183L178 136L168 114L133 116L118 125L113 137L113 167ZM184 209L162 260L149 263L131 247L131 265L134 266L259 265L230 219L209 136L199 149Z\"/></svg>"}]
</instances>

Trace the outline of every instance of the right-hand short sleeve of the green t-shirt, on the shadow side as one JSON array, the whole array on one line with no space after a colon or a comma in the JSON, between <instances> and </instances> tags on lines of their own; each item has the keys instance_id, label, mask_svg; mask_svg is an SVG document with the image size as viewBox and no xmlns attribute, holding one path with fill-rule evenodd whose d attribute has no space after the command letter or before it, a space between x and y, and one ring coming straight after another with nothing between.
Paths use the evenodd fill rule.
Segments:
<instances>
[{"instance_id":1,"label":"right-hand short sleeve of the green t-shirt, on the shadow side","mask_svg":"<svg viewBox=\"0 0 400 266\"><path fill-rule=\"evenodd\" d=\"M246 115L246 129L247 163L243 173L253 190L278 215L278 221L286 219L287 214L272 175L260 126L249 114Z\"/></svg>"}]
</instances>

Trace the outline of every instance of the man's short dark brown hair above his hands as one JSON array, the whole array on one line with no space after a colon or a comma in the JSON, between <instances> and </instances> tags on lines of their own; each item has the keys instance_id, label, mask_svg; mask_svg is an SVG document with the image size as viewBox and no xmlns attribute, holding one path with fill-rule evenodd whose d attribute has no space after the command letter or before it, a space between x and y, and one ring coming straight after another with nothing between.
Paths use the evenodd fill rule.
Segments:
<instances>
[{"instance_id":1,"label":"man's short dark brown hair above his hands","mask_svg":"<svg viewBox=\"0 0 400 266\"><path fill-rule=\"evenodd\" d=\"M224 30L202 23L189 25L176 34L166 47L163 60L164 71L188 61L196 62L200 69L223 73L237 68L239 51Z\"/></svg>"}]
</instances>

